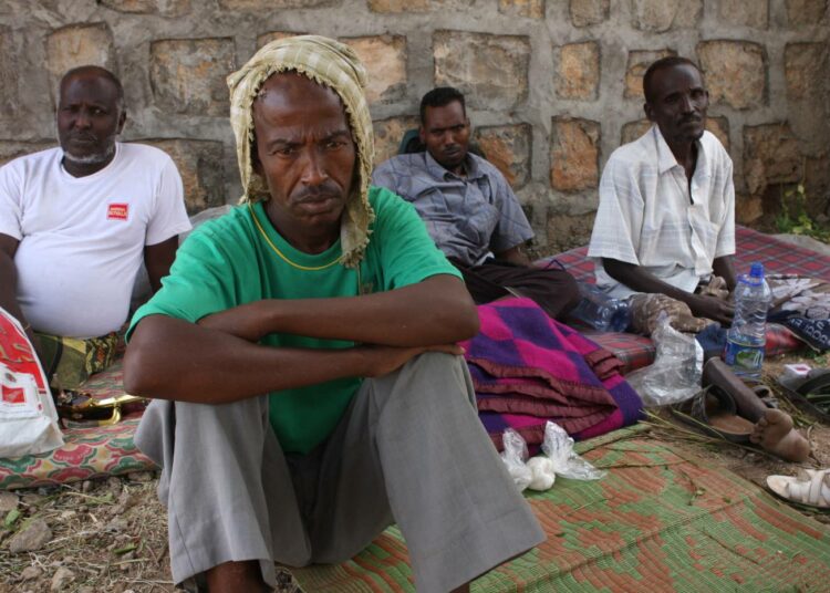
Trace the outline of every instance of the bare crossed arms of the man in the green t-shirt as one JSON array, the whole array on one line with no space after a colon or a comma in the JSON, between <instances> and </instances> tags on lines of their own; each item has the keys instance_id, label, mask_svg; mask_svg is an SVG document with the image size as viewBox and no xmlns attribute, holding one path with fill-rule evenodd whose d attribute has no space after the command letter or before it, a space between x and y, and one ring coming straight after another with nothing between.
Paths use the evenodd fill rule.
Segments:
<instances>
[{"instance_id":1,"label":"bare crossed arms of the man in the green t-shirt","mask_svg":"<svg viewBox=\"0 0 830 593\"><path fill-rule=\"evenodd\" d=\"M425 351L460 354L454 343L477 332L475 304L464 283L448 274L361 296L262 300L198 323L148 315L127 347L124 386L147 397L224 404L341 377L384 375ZM257 343L270 333L364 345L310 350Z\"/></svg>"}]
</instances>

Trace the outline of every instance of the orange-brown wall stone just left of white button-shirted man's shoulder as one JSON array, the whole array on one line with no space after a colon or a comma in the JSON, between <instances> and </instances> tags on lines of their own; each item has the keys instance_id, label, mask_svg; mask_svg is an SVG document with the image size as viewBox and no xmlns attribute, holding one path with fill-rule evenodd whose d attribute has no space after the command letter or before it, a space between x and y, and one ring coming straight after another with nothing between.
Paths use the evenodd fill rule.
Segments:
<instances>
[{"instance_id":1,"label":"orange-brown wall stone just left of white button-shirted man's shoulder","mask_svg":"<svg viewBox=\"0 0 830 593\"><path fill-rule=\"evenodd\" d=\"M589 119L554 117L550 147L550 185L560 191L596 187L600 160L600 124Z\"/></svg>"}]
</instances>

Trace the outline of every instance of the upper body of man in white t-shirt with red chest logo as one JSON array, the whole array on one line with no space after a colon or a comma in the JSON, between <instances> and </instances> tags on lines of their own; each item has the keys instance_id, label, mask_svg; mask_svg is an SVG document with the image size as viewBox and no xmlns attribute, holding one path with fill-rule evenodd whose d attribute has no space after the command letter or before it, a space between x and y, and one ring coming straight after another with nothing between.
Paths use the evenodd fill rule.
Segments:
<instances>
[{"instance_id":1,"label":"upper body of man in white t-shirt with red chest logo","mask_svg":"<svg viewBox=\"0 0 830 593\"><path fill-rule=\"evenodd\" d=\"M144 260L153 290L190 223L169 156L121 144L121 82L97 66L60 84L60 147L0 168L0 306L32 330L87 339L126 321Z\"/></svg>"}]
</instances>

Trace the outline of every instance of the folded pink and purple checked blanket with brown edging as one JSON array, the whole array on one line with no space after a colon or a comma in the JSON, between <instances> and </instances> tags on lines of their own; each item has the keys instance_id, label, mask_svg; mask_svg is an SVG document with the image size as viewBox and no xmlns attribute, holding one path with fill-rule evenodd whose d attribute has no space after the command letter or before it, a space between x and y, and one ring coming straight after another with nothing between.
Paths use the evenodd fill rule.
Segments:
<instances>
[{"instance_id":1,"label":"folded pink and purple checked blanket with brown edging","mask_svg":"<svg viewBox=\"0 0 830 593\"><path fill-rule=\"evenodd\" d=\"M501 450L506 428L531 452L552 420L575 439L634 424L643 403L612 353L550 319L529 299L478 306L479 334L464 342L481 422Z\"/></svg>"}]
</instances>

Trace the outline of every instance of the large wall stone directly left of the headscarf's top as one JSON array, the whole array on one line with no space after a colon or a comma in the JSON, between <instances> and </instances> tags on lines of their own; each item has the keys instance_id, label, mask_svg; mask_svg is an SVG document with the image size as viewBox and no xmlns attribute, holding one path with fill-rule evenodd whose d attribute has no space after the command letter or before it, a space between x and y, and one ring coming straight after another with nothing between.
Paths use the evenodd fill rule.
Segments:
<instances>
[{"instance_id":1,"label":"large wall stone directly left of the headscarf's top","mask_svg":"<svg viewBox=\"0 0 830 593\"><path fill-rule=\"evenodd\" d=\"M149 56L151 86L162 110L191 115L228 115L225 79L235 70L232 39L154 41Z\"/></svg>"}]
</instances>

